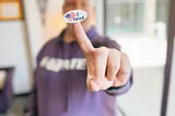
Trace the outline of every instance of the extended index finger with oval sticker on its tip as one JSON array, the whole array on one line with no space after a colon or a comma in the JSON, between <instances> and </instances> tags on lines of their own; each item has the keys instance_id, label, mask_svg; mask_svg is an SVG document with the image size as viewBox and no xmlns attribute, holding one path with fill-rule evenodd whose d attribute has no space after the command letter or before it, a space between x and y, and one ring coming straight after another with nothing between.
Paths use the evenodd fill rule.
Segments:
<instances>
[{"instance_id":1,"label":"extended index finger with oval sticker on its tip","mask_svg":"<svg viewBox=\"0 0 175 116\"><path fill-rule=\"evenodd\" d=\"M94 47L90 42L90 39L88 38L81 23L73 23L72 27L75 35L75 39L80 48L83 50L83 53L88 54L88 53L94 51Z\"/></svg>"}]
</instances>

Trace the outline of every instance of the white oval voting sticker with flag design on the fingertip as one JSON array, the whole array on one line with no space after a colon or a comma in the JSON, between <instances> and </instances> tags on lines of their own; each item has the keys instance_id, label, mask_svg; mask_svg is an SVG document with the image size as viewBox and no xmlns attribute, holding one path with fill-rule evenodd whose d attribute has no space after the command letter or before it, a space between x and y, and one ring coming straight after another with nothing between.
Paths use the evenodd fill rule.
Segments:
<instances>
[{"instance_id":1,"label":"white oval voting sticker with flag design on the fingertip","mask_svg":"<svg viewBox=\"0 0 175 116\"><path fill-rule=\"evenodd\" d=\"M79 23L88 18L88 13L83 10L72 10L63 15L67 23Z\"/></svg>"}]
</instances>

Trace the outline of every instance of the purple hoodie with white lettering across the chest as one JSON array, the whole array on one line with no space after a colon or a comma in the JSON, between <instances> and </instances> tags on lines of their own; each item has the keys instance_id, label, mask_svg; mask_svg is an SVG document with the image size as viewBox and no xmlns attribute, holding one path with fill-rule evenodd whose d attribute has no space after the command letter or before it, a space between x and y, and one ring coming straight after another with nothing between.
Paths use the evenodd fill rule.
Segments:
<instances>
[{"instance_id":1,"label":"purple hoodie with white lettering across the chest","mask_svg":"<svg viewBox=\"0 0 175 116\"><path fill-rule=\"evenodd\" d=\"M37 57L31 116L117 116L116 96L132 84L132 72L127 84L92 92L86 88L86 66L77 42L66 44L65 31L49 40ZM100 36L95 27L86 33L94 47L120 49L118 44Z\"/></svg>"}]
</instances>

